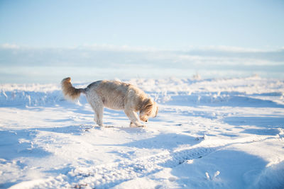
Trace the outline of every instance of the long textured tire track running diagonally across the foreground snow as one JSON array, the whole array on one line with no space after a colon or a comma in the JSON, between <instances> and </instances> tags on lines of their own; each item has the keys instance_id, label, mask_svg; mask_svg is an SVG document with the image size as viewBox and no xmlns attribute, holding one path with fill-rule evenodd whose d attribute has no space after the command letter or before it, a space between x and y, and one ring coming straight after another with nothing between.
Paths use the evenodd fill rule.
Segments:
<instances>
[{"instance_id":1,"label":"long textured tire track running diagonally across the foreground snow","mask_svg":"<svg viewBox=\"0 0 284 189\"><path fill-rule=\"evenodd\" d=\"M213 145L211 147L165 150L159 154L138 159L89 166L87 168L70 168L66 175L60 174L56 178L36 183L31 188L111 188L125 181L158 173L163 168L174 168L187 160L200 159L232 144L261 142L266 139L275 139L275 137L248 137L236 139L234 142L228 140L219 143L217 141L216 144L210 140L210 144Z\"/></svg>"}]
</instances>

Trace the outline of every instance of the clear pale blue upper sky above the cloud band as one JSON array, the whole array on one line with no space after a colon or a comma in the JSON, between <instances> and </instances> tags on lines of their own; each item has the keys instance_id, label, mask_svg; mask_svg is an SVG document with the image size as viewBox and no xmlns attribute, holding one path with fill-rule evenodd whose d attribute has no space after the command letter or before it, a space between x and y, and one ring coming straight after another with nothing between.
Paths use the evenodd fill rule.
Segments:
<instances>
[{"instance_id":1,"label":"clear pale blue upper sky above the cloud band","mask_svg":"<svg viewBox=\"0 0 284 189\"><path fill-rule=\"evenodd\" d=\"M284 45L284 1L0 1L0 44Z\"/></svg>"}]
</instances>

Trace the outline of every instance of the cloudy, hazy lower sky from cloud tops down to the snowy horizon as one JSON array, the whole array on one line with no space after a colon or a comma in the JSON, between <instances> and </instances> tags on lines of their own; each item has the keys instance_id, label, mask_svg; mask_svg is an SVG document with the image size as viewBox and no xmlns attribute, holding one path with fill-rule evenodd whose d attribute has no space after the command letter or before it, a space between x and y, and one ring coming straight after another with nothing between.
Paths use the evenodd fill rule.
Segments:
<instances>
[{"instance_id":1,"label":"cloudy, hazy lower sky from cloud tops down to the snowy horizon","mask_svg":"<svg viewBox=\"0 0 284 189\"><path fill-rule=\"evenodd\" d=\"M0 45L0 83L57 83L101 79L203 79L247 77L283 79L284 50L188 47L165 50L129 45L28 47Z\"/></svg>"}]
</instances>

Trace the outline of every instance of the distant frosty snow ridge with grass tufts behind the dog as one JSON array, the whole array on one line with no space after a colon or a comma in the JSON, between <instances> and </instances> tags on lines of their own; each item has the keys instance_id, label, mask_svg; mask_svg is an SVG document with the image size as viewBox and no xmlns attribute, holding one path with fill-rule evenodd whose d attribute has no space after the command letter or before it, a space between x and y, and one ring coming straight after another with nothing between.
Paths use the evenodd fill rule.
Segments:
<instances>
[{"instance_id":1,"label":"distant frosty snow ridge with grass tufts behind the dog","mask_svg":"<svg viewBox=\"0 0 284 189\"><path fill-rule=\"evenodd\" d=\"M255 99L261 98L284 105L284 81L278 79L261 79L254 76L234 79L131 79L126 82L142 88L158 103L170 103L173 99L175 105L249 101L248 98L240 99L245 94ZM87 83L75 86L86 87ZM59 84L0 85L2 107L56 105L60 101L65 100ZM84 98L80 101L86 102Z\"/></svg>"}]
</instances>

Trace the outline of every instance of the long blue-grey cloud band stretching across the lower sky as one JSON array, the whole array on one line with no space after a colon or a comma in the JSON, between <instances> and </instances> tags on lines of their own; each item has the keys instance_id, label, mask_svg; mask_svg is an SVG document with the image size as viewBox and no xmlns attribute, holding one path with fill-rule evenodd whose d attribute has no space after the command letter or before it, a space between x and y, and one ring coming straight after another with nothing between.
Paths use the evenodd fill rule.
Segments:
<instances>
[{"instance_id":1,"label":"long blue-grey cloud band stretching across the lower sky","mask_svg":"<svg viewBox=\"0 0 284 189\"><path fill-rule=\"evenodd\" d=\"M239 47L208 46L191 50L161 50L129 45L82 45L68 48L35 48L0 45L1 65L97 66L146 65L151 67L275 66L284 64L284 50L264 51Z\"/></svg>"}]
</instances>

